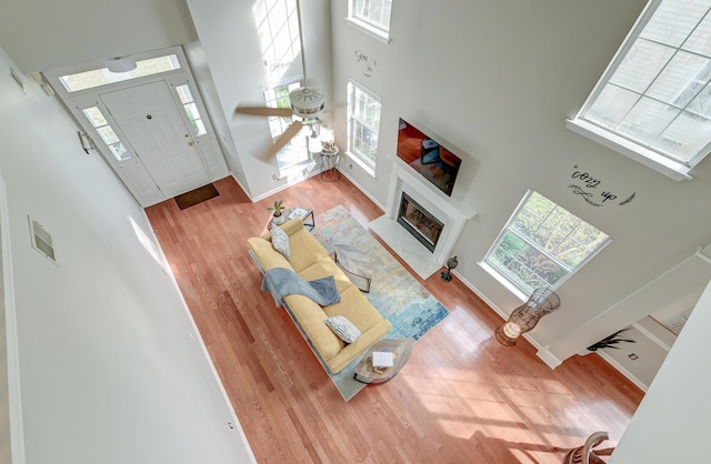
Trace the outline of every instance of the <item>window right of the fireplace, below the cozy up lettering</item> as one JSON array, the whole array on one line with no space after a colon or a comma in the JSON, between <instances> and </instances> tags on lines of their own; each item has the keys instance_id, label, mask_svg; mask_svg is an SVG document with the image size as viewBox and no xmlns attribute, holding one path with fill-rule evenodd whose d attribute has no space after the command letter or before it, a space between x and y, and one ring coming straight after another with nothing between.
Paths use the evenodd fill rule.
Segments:
<instances>
[{"instance_id":1,"label":"window right of the fireplace, below the cozy up lettering","mask_svg":"<svg viewBox=\"0 0 711 464\"><path fill-rule=\"evenodd\" d=\"M483 262L528 295L557 289L609 242L604 232L530 190Z\"/></svg>"}]
</instances>

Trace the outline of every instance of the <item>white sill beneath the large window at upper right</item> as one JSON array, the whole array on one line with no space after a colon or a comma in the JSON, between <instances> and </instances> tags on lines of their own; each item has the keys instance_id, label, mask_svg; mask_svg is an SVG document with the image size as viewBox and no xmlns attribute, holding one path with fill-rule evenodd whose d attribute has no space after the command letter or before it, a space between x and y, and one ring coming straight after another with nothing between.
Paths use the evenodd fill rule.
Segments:
<instances>
[{"instance_id":1,"label":"white sill beneath the large window at upper right","mask_svg":"<svg viewBox=\"0 0 711 464\"><path fill-rule=\"evenodd\" d=\"M644 147L621 138L612 132L605 131L594 124L581 119L565 120L565 127L593 142L598 142L603 147L614 150L627 158L634 160L654 171L667 175L675 181L690 180L689 174L691 168L685 164L674 162L669 158L662 157Z\"/></svg>"}]
</instances>

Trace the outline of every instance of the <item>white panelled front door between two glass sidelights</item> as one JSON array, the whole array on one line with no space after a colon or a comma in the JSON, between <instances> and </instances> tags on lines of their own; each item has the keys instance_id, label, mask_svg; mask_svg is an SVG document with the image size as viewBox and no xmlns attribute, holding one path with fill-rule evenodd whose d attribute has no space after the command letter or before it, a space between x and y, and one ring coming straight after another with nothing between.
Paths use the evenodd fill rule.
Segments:
<instances>
[{"instance_id":1,"label":"white panelled front door between two glass sidelights","mask_svg":"<svg viewBox=\"0 0 711 464\"><path fill-rule=\"evenodd\" d=\"M210 182L181 108L164 81L101 93L100 98L166 198Z\"/></svg>"}]
</instances>

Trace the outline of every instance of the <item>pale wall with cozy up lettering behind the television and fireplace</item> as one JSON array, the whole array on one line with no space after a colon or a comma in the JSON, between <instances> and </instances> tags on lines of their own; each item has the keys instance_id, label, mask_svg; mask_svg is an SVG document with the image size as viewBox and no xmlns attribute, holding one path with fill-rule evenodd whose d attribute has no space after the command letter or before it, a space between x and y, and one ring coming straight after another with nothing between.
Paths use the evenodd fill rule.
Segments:
<instances>
[{"instance_id":1,"label":"pale wall with cozy up lettering behind the television and fireplace","mask_svg":"<svg viewBox=\"0 0 711 464\"><path fill-rule=\"evenodd\" d=\"M353 78L382 98L377 178L346 170L385 203L398 117L463 154L453 198L478 216L452 254L457 274L508 314L521 301L478 262L522 199L534 189L594 226L612 243L557 292L561 310L530 334L563 360L642 319L653 307L595 316L692 254L711 239L703 213L711 195L711 160L692 181L674 182L564 127L600 78L645 1L393 2L390 44L351 28L347 2L332 4L334 105ZM372 71L357 53L368 56ZM344 140L343 123L336 125ZM600 180L618 201L592 206L573 193L574 171ZM634 194L633 201L619 205Z\"/></svg>"}]
</instances>

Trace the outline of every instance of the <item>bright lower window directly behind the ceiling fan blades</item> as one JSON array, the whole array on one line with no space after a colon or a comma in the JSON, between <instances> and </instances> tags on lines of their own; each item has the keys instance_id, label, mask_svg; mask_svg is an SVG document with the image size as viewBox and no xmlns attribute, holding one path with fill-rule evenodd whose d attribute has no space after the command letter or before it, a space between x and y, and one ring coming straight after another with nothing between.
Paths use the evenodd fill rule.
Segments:
<instances>
[{"instance_id":1,"label":"bright lower window directly behind the ceiling fan blades","mask_svg":"<svg viewBox=\"0 0 711 464\"><path fill-rule=\"evenodd\" d=\"M271 108L291 108L289 92L301 87L301 78L293 78L279 82L274 87L264 87L264 103ZM293 122L293 117L268 117L269 131L272 141L277 141L289 125ZM277 153L277 165L279 175L286 176L288 171L294 167L309 164L312 155L307 149L307 129L302 129Z\"/></svg>"}]
</instances>

